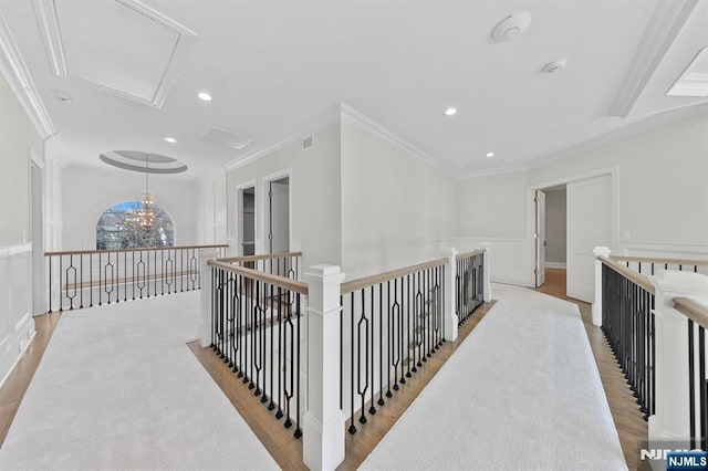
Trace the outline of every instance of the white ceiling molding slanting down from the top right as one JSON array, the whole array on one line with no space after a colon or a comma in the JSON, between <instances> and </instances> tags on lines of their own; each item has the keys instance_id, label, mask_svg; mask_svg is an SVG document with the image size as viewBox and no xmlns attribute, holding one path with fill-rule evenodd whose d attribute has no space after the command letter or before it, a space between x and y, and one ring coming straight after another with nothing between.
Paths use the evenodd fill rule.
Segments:
<instances>
[{"instance_id":1,"label":"white ceiling molding slanting down from the top right","mask_svg":"<svg viewBox=\"0 0 708 471\"><path fill-rule=\"evenodd\" d=\"M660 0L649 20L634 60L610 108L610 116L628 117L639 95L686 24L698 0Z\"/></svg>"}]
</instances>

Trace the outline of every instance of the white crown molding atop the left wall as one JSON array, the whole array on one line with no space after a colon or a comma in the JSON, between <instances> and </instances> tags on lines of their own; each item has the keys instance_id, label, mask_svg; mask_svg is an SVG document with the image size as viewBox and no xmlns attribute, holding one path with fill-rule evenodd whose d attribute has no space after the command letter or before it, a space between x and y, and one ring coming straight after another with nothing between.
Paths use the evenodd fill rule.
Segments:
<instances>
[{"instance_id":1,"label":"white crown molding atop the left wall","mask_svg":"<svg viewBox=\"0 0 708 471\"><path fill-rule=\"evenodd\" d=\"M56 134L52 118L42 103L2 13L0 13L0 71L42 139Z\"/></svg>"}]
</instances>

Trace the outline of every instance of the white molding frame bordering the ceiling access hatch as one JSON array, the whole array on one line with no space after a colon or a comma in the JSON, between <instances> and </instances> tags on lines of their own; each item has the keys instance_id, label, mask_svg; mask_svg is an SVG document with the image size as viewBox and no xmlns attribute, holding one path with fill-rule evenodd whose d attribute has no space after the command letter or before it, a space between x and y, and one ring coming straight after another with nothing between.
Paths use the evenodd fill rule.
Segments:
<instances>
[{"instance_id":1,"label":"white molding frame bordering the ceiling access hatch","mask_svg":"<svg viewBox=\"0 0 708 471\"><path fill-rule=\"evenodd\" d=\"M82 84L100 90L112 95L119 96L122 98L131 100L142 105L152 106L155 108L162 108L167 100L167 95L171 90L174 83L179 78L179 66L181 61L188 54L194 40L198 34L192 30L186 28L176 20L160 13L159 11L146 6L138 0L115 0L131 10L168 28L178 34L175 48L170 53L170 59L167 64L167 69L163 73L163 76L157 84L155 94L152 98L147 100L142 96L125 93L121 90L111 88L98 83L85 81L81 77L71 75L66 66L66 57L64 55L64 46L62 44L62 36L59 27L59 18L56 15L56 4L54 0L34 0L34 15L40 27L42 40L44 42L44 49L49 59L50 65L58 76L67 76L72 80L79 81Z\"/></svg>"}]
</instances>

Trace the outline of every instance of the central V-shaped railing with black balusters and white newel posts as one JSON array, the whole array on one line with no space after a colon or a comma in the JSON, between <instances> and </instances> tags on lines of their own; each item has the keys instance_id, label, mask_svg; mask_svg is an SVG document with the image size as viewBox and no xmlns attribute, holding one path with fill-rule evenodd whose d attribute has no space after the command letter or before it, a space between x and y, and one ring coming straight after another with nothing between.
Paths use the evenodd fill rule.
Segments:
<instances>
[{"instance_id":1,"label":"central V-shaped railing with black balusters and white newel posts","mask_svg":"<svg viewBox=\"0 0 708 471\"><path fill-rule=\"evenodd\" d=\"M309 468L334 469L346 430L372 420L457 338L458 314L489 297L488 253L456 254L346 283L334 265L293 280L300 252L205 262L200 345L294 426Z\"/></svg>"}]
</instances>

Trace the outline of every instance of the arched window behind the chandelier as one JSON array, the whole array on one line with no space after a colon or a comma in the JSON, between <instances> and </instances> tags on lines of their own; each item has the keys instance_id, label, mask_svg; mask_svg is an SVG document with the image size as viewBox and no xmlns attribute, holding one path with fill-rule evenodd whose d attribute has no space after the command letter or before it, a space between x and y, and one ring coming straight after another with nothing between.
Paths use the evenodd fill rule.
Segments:
<instances>
[{"instance_id":1,"label":"arched window behind the chandelier","mask_svg":"<svg viewBox=\"0 0 708 471\"><path fill-rule=\"evenodd\" d=\"M150 211L146 219L140 201L119 202L106 209L96 224L96 250L173 247L171 216L154 205Z\"/></svg>"}]
</instances>

